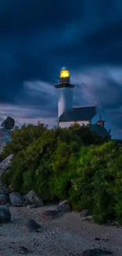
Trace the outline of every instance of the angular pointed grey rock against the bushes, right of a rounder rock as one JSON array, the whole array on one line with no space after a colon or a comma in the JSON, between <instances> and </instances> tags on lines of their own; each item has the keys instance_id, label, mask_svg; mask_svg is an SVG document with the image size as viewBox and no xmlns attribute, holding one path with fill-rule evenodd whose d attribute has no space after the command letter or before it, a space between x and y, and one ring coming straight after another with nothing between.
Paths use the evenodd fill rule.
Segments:
<instances>
[{"instance_id":1,"label":"angular pointed grey rock against the bushes, right of a rounder rock","mask_svg":"<svg viewBox=\"0 0 122 256\"><path fill-rule=\"evenodd\" d=\"M29 191L27 195L24 195L24 198L28 199L32 205L43 206L43 200L35 195L35 191Z\"/></svg>"}]
</instances>

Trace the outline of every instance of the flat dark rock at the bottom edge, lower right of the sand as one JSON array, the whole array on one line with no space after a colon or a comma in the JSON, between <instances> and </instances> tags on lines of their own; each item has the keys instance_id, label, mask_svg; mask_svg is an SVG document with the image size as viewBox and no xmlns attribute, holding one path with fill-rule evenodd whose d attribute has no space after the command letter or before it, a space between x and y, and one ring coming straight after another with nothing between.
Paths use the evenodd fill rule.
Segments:
<instances>
[{"instance_id":1,"label":"flat dark rock at the bottom edge, lower right of the sand","mask_svg":"<svg viewBox=\"0 0 122 256\"><path fill-rule=\"evenodd\" d=\"M92 250L84 250L83 251L83 256L109 256L113 254L110 251L107 250L102 250L102 249L92 249Z\"/></svg>"}]
</instances>

